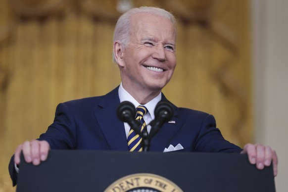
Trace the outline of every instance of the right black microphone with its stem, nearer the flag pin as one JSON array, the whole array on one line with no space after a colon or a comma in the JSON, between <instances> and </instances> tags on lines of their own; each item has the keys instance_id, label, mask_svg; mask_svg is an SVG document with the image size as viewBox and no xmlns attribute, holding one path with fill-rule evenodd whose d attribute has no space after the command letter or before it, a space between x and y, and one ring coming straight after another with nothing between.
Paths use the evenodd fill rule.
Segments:
<instances>
[{"instance_id":1,"label":"right black microphone with its stem, nearer the flag pin","mask_svg":"<svg viewBox=\"0 0 288 192\"><path fill-rule=\"evenodd\" d=\"M165 122L169 121L173 117L173 106L167 101L159 101L155 107L154 114L155 119L149 124L151 125L149 137L154 136L160 127L162 127Z\"/></svg>"}]
</instances>

